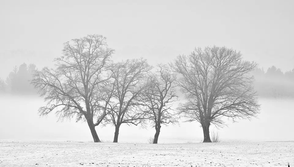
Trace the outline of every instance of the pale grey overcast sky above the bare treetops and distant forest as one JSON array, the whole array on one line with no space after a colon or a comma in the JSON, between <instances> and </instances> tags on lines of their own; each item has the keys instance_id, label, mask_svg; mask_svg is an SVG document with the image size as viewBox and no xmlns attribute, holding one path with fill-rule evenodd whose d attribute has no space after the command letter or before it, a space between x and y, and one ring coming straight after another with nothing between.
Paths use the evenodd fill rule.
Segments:
<instances>
[{"instance_id":1,"label":"pale grey overcast sky above the bare treetops and distant forest","mask_svg":"<svg viewBox=\"0 0 294 167\"><path fill-rule=\"evenodd\" d=\"M227 46L267 69L294 68L293 1L0 1L0 77L15 65L40 69L62 44L107 37L114 59L169 62L194 47Z\"/></svg>"}]
</instances>

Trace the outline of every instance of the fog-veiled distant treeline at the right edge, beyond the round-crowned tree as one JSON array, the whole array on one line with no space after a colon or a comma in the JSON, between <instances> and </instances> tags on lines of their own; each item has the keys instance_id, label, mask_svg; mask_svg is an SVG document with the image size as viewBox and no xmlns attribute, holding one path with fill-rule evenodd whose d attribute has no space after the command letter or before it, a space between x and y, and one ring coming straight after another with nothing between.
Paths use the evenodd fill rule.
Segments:
<instances>
[{"instance_id":1,"label":"fog-veiled distant treeline at the right edge, beyond the round-crowned tree","mask_svg":"<svg viewBox=\"0 0 294 167\"><path fill-rule=\"evenodd\" d=\"M263 68L257 68L253 76L254 89L260 97L294 98L294 69L284 73L275 66L266 72Z\"/></svg>"}]
</instances>

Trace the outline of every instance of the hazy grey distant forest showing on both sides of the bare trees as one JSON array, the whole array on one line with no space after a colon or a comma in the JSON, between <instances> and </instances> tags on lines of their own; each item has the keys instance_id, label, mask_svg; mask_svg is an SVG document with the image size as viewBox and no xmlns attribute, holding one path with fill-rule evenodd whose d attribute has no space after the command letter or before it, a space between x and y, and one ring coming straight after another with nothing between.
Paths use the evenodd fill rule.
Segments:
<instances>
[{"instance_id":1,"label":"hazy grey distant forest showing on both sides of the bare trees","mask_svg":"<svg viewBox=\"0 0 294 167\"><path fill-rule=\"evenodd\" d=\"M30 85L36 70L36 65L26 63L15 66L6 80L0 78L0 93L9 94L36 94L36 90ZM294 69L282 72L281 69L272 66L264 71L257 68L252 72L255 78L254 89L259 97L266 98L294 98Z\"/></svg>"}]
</instances>

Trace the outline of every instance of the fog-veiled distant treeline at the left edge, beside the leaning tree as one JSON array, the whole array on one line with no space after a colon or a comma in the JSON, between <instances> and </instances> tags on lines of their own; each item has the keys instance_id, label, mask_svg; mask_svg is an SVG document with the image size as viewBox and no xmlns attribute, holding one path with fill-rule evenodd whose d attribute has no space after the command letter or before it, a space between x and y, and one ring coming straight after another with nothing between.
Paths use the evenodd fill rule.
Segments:
<instances>
[{"instance_id":1,"label":"fog-veiled distant treeline at the left edge, beside the leaning tree","mask_svg":"<svg viewBox=\"0 0 294 167\"><path fill-rule=\"evenodd\" d=\"M30 84L33 74L36 71L34 64L22 64L15 66L6 77L6 80L0 78L0 92L10 94L36 94L36 90Z\"/></svg>"}]
</instances>

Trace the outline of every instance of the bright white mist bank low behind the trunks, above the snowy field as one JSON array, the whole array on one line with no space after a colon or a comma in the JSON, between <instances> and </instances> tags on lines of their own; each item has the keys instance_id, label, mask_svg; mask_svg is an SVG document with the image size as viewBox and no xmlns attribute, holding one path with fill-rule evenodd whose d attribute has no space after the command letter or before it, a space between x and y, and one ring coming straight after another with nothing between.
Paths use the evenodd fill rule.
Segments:
<instances>
[{"instance_id":1,"label":"bright white mist bank low behind the trunks, above the snowy field","mask_svg":"<svg viewBox=\"0 0 294 167\"><path fill-rule=\"evenodd\" d=\"M258 118L239 120L237 123L227 121L228 127L218 131L222 141L291 141L292 104L294 99L260 98L261 113ZM89 127L85 122L75 119L57 122L55 114L39 117L38 108L45 103L37 95L0 95L0 139L1 140L46 140L46 141L92 141ZM203 139L202 128L196 121L183 122L179 125L162 126L159 143L200 142ZM113 140L115 127L96 127L102 141ZM120 130L120 142L147 143L155 130L151 126L123 125Z\"/></svg>"}]
</instances>

